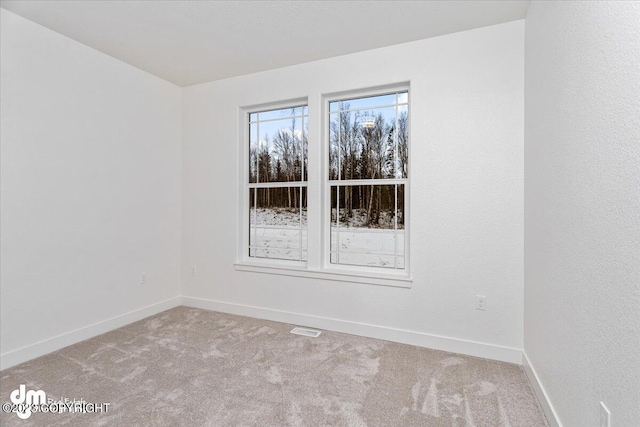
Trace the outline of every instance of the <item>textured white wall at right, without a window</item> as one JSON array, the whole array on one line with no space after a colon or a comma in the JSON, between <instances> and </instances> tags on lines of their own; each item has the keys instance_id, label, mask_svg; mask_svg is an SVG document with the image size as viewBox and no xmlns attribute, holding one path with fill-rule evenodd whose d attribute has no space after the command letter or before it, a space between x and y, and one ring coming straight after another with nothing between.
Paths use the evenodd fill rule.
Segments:
<instances>
[{"instance_id":1,"label":"textured white wall at right, without a window","mask_svg":"<svg viewBox=\"0 0 640 427\"><path fill-rule=\"evenodd\" d=\"M525 351L565 426L640 425L640 3L526 19Z\"/></svg>"}]
</instances>

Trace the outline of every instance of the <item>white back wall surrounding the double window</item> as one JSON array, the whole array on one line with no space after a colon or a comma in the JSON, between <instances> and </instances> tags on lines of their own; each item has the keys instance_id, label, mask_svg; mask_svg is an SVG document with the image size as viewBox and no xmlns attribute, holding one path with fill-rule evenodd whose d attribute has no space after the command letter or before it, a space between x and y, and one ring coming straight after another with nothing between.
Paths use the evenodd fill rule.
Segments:
<instances>
[{"instance_id":1,"label":"white back wall surrounding the double window","mask_svg":"<svg viewBox=\"0 0 640 427\"><path fill-rule=\"evenodd\" d=\"M200 303L320 326L329 323L311 316L504 346L505 358L517 361L524 282L523 33L518 21L186 88L182 293L192 298L183 301L213 300L229 304ZM308 96L313 115L321 94L405 81L412 96L412 288L235 271L237 155L244 143L238 140L239 108ZM319 153L320 122L313 117L309 138L310 153ZM475 310L476 294L487 296L486 312ZM455 348L506 354L482 353L472 343Z\"/></svg>"}]
</instances>

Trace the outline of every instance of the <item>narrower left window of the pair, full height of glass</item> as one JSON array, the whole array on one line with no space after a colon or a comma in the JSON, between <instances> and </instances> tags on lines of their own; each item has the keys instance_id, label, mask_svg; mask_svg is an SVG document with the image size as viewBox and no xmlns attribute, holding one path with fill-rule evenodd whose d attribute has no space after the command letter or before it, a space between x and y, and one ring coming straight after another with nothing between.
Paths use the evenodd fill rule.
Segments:
<instances>
[{"instance_id":1,"label":"narrower left window of the pair, full height of glass","mask_svg":"<svg viewBox=\"0 0 640 427\"><path fill-rule=\"evenodd\" d=\"M307 106L249 114L249 257L307 259Z\"/></svg>"}]
</instances>

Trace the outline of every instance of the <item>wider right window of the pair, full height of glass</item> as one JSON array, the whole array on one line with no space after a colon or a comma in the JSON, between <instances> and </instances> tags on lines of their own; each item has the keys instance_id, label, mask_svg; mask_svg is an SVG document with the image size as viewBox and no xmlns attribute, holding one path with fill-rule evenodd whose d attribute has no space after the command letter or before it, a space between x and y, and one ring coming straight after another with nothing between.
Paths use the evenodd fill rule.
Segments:
<instances>
[{"instance_id":1,"label":"wider right window of the pair, full height of glass","mask_svg":"<svg viewBox=\"0 0 640 427\"><path fill-rule=\"evenodd\" d=\"M330 263L405 269L408 92L329 102Z\"/></svg>"}]
</instances>

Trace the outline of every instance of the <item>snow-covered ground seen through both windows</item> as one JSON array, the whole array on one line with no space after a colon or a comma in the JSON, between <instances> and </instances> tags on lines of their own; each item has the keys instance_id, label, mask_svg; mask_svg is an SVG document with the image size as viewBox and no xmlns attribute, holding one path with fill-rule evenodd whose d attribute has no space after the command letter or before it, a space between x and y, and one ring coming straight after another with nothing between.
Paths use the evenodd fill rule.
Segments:
<instances>
[{"instance_id":1,"label":"snow-covered ground seen through both windows","mask_svg":"<svg viewBox=\"0 0 640 427\"><path fill-rule=\"evenodd\" d=\"M331 227L331 262L404 268L404 229L366 228L364 219ZM290 209L251 211L251 256L286 260L307 259L307 212ZM394 254L396 254L394 256Z\"/></svg>"}]
</instances>

